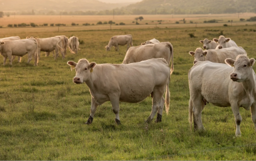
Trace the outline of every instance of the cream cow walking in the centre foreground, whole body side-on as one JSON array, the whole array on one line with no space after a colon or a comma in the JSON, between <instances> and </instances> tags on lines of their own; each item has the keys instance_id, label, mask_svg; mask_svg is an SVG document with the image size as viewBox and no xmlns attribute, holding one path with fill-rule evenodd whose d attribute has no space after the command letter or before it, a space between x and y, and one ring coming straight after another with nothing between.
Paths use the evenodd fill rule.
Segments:
<instances>
[{"instance_id":1,"label":"cream cow walking in the centre foreground, whole body side-on","mask_svg":"<svg viewBox=\"0 0 256 161\"><path fill-rule=\"evenodd\" d=\"M89 63L87 59L80 59L78 63L68 61L68 65L75 68L76 75L73 82L85 82L91 92L91 114L87 124L93 122L97 106L110 101L115 122L120 124L119 101L141 102L152 94L152 111L147 119L150 122L157 113L156 122L161 122L163 104L169 110L169 76L170 69L165 59L150 59L129 65L111 65ZM165 99L163 94L165 94ZM165 102L166 101L166 102Z\"/></svg>"}]
</instances>

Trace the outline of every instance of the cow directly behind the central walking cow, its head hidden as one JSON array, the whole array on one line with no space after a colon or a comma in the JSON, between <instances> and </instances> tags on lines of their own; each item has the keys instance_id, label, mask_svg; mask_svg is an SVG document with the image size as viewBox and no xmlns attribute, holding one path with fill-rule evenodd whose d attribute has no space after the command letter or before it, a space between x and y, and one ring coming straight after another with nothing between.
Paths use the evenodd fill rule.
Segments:
<instances>
[{"instance_id":1,"label":"cow directly behind the central walking cow, its head hidden","mask_svg":"<svg viewBox=\"0 0 256 161\"><path fill-rule=\"evenodd\" d=\"M167 61L168 65L171 63L171 73L173 73L173 45L169 42L130 47L125 54L123 64L135 63L153 58L163 58Z\"/></svg>"}]
</instances>

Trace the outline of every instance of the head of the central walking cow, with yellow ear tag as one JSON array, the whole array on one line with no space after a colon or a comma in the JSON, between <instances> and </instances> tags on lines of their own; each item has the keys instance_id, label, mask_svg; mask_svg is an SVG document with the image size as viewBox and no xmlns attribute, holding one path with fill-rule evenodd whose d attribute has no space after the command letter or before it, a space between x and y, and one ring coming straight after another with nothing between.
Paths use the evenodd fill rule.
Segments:
<instances>
[{"instance_id":1,"label":"head of the central walking cow, with yellow ear tag","mask_svg":"<svg viewBox=\"0 0 256 161\"><path fill-rule=\"evenodd\" d=\"M68 61L67 64L71 66L71 70L75 69L76 75L73 82L76 84L81 84L88 81L91 73L93 73L93 68L96 65L94 62L89 63L87 59L80 59L78 63Z\"/></svg>"}]
</instances>

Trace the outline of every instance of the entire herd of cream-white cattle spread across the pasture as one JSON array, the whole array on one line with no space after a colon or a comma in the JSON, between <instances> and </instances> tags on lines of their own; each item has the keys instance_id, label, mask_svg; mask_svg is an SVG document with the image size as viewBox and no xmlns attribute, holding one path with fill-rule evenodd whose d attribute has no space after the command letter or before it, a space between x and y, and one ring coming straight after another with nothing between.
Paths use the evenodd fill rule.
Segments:
<instances>
[{"instance_id":1,"label":"entire herd of cream-white cattle spread across the pasture","mask_svg":"<svg viewBox=\"0 0 256 161\"><path fill-rule=\"evenodd\" d=\"M49 52L55 50L55 59L58 51L61 51L64 59L67 47L71 53L77 53L79 49L79 41L76 37L67 40L63 35L45 39L33 37L15 41L5 41L5 39L0 39L0 52L4 57L4 65L7 57L11 64L13 55L22 57L28 53L28 63L33 55L37 65L37 55L40 57L40 51L45 51L46 55L49 55ZM246 110L251 107L251 118L256 130L256 76L253 71L255 59L249 59L242 47L238 47L235 41L223 35L213 41L205 39L199 42L206 50L203 51L199 47L195 52L189 52L194 57L194 65L188 73L191 128L194 122L196 130L204 129L201 112L207 102L211 102L215 106L231 106L235 116L236 136L241 136L242 118L239 107ZM173 46L169 42L151 39L133 47L131 35L117 35L111 37L105 48L109 51L111 47L115 47L118 51L119 45L127 45L127 53L123 63L119 65L97 65L87 59L80 59L78 63L67 62L71 70L76 71L73 82L76 84L85 82L91 92L91 113L87 124L93 122L97 106L107 101L112 104L115 122L120 124L120 101L135 103L150 95L153 98L152 110L147 122L153 120L156 113L156 122L161 122L164 104L166 112L169 112L169 81L174 69Z\"/></svg>"}]
</instances>

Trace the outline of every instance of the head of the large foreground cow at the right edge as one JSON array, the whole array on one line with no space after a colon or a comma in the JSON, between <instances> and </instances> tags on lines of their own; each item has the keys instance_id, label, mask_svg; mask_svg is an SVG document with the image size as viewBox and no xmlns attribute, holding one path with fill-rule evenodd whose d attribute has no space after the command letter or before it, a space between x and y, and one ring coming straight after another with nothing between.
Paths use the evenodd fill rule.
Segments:
<instances>
[{"instance_id":1,"label":"head of the large foreground cow at the right edge","mask_svg":"<svg viewBox=\"0 0 256 161\"><path fill-rule=\"evenodd\" d=\"M251 77L255 59L249 59L247 55L238 55L235 60L231 58L225 59L225 63L234 67L234 71L231 73L230 79L236 82L243 82Z\"/></svg>"}]
</instances>

